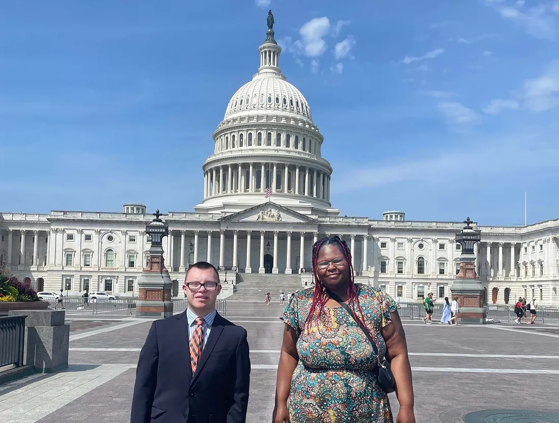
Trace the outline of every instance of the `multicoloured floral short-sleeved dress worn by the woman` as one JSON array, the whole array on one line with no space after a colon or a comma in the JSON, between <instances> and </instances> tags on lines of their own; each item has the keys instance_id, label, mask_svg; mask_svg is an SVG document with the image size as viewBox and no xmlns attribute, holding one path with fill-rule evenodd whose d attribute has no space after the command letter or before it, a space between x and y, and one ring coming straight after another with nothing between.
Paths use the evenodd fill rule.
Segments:
<instances>
[{"instance_id":1,"label":"multicoloured floral short-sleeved dress worn by the woman","mask_svg":"<svg viewBox=\"0 0 559 423\"><path fill-rule=\"evenodd\" d=\"M381 328L397 306L390 295L356 284L365 325L381 354ZM367 337L342 307L326 308L320 322L307 328L313 288L305 289L281 314L295 328L299 363L293 372L287 408L293 423L392 423L389 399L378 387L377 361Z\"/></svg>"}]
</instances>

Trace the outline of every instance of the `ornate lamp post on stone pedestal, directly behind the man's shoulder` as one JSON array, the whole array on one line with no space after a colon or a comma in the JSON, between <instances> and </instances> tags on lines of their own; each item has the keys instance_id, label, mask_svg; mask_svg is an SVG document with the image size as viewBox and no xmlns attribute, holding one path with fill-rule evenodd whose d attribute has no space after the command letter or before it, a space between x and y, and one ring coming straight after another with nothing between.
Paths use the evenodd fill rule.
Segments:
<instances>
[{"instance_id":1,"label":"ornate lamp post on stone pedestal, directly behind the man's shoulder","mask_svg":"<svg viewBox=\"0 0 559 423\"><path fill-rule=\"evenodd\" d=\"M136 317L169 317L173 315L171 290L173 282L163 259L163 237L168 236L169 227L159 219L159 210L145 227L145 233L151 237L148 264L138 278L138 302Z\"/></svg>"}]
</instances>

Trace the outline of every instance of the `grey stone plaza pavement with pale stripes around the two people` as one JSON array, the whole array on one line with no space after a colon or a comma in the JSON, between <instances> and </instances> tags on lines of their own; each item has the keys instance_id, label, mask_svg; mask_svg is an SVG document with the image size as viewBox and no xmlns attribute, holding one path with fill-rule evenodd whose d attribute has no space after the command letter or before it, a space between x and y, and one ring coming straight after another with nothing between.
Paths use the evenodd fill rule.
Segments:
<instances>
[{"instance_id":1,"label":"grey stone plaza pavement with pale stripes around the two people","mask_svg":"<svg viewBox=\"0 0 559 423\"><path fill-rule=\"evenodd\" d=\"M282 309L228 302L226 317L249 336L250 423L271 420ZM129 421L135 364L151 321L110 313L67 318L79 327L70 335L70 368L0 386L0 423ZM558 327L404 325L418 423L459 423L467 413L496 408L559 408ZM390 399L396 415L397 399Z\"/></svg>"}]
</instances>

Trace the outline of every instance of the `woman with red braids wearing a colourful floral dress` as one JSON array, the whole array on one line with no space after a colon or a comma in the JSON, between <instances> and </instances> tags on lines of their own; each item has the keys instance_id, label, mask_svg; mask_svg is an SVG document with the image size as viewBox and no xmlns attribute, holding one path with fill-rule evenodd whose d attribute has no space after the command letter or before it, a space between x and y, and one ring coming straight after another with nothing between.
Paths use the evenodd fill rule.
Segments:
<instances>
[{"instance_id":1,"label":"woman with red braids wearing a colourful floral dress","mask_svg":"<svg viewBox=\"0 0 559 423\"><path fill-rule=\"evenodd\" d=\"M300 292L281 315L286 323L278 365L274 423L393 423L378 386L377 355L352 316L365 324L390 362L400 411L396 423L415 423L408 348L395 301L377 288L354 284L351 255L339 237L312 247L314 288Z\"/></svg>"}]
</instances>

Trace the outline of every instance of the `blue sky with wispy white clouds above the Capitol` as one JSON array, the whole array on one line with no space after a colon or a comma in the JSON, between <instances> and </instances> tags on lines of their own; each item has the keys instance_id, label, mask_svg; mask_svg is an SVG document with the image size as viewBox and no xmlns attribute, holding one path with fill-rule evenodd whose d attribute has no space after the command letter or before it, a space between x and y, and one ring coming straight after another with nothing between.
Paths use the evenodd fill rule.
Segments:
<instances>
[{"instance_id":1,"label":"blue sky with wispy white clouds above the Capitol","mask_svg":"<svg viewBox=\"0 0 559 423\"><path fill-rule=\"evenodd\" d=\"M556 0L4 2L0 210L192 211L268 8L342 215L559 217Z\"/></svg>"}]
</instances>

